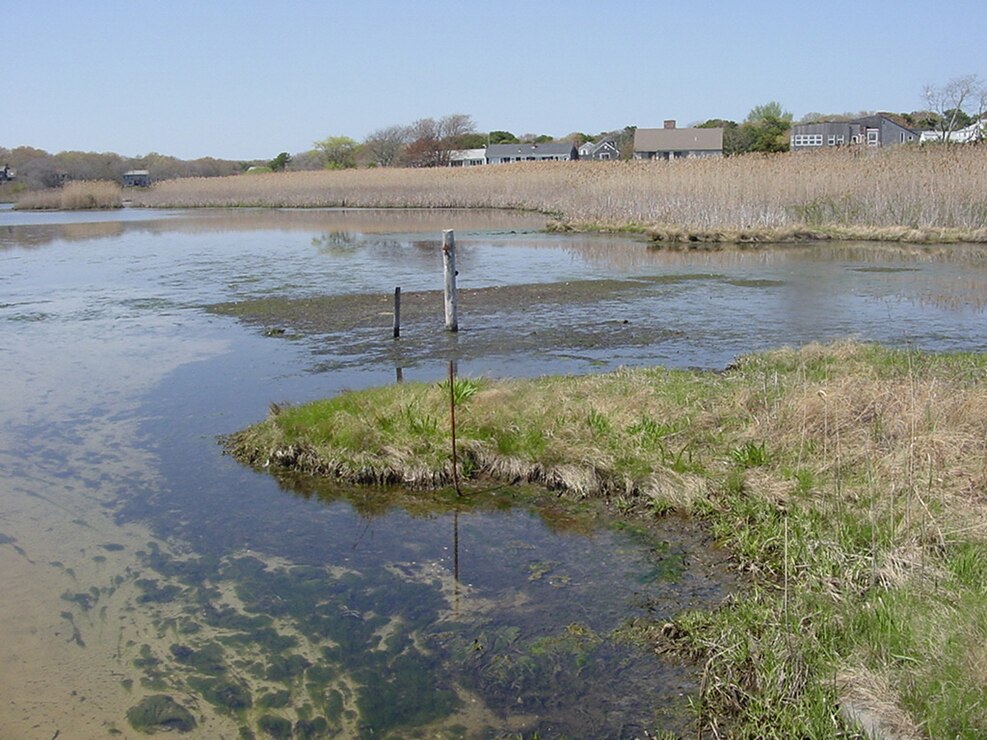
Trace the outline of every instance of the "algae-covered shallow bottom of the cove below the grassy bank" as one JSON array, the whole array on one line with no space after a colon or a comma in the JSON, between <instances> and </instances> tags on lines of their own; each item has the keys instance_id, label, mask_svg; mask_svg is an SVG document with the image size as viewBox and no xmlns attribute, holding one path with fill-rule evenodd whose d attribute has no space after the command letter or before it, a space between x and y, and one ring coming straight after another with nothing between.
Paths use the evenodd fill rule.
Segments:
<instances>
[{"instance_id":1,"label":"algae-covered shallow bottom of the cove below the grassy bank","mask_svg":"<svg viewBox=\"0 0 987 740\"><path fill-rule=\"evenodd\" d=\"M688 733L697 668L641 630L730 590L687 521L515 487L280 484L318 508L287 507L270 542L139 553L137 601L165 637L129 645L145 691L285 737Z\"/></svg>"}]
</instances>

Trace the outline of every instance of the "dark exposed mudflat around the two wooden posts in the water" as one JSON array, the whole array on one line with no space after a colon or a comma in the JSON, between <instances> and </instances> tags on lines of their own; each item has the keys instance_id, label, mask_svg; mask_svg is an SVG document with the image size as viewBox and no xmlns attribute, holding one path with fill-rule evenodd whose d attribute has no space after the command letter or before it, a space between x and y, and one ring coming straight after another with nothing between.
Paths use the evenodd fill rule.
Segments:
<instances>
[{"instance_id":1,"label":"dark exposed mudflat around the two wooden posts in the water","mask_svg":"<svg viewBox=\"0 0 987 740\"><path fill-rule=\"evenodd\" d=\"M268 336L315 339L313 351L322 369L366 362L409 367L439 359L653 347L684 332L660 317L632 312L628 301L656 287L707 279L679 275L460 290L456 334L445 330L442 291L402 293L396 340L393 295L271 297L208 308L236 316Z\"/></svg>"}]
</instances>

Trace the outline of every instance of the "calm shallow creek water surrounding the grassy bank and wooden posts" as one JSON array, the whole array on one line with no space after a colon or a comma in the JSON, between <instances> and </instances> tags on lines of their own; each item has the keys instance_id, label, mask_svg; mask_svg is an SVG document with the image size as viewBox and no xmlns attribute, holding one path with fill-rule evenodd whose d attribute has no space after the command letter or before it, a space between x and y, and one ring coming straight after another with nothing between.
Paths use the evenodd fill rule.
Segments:
<instances>
[{"instance_id":1,"label":"calm shallow creek water surrounding the grassy bank and wooden posts","mask_svg":"<svg viewBox=\"0 0 987 740\"><path fill-rule=\"evenodd\" d=\"M276 480L218 435L397 367L439 380L453 357L460 374L528 376L721 368L847 336L983 351L987 257L659 252L542 225L0 210L0 736L685 732L694 671L628 625L732 588L689 523L619 525L504 488L457 501ZM461 303L458 335L441 315L396 344L386 312L345 331L249 310L441 289L445 228L460 287L501 296Z\"/></svg>"}]
</instances>

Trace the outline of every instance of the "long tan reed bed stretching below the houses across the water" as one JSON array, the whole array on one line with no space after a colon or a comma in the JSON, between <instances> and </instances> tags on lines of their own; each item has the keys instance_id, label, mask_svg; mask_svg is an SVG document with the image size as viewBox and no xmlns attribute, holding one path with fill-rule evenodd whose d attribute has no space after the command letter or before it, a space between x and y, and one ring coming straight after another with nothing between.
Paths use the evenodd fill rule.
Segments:
<instances>
[{"instance_id":1,"label":"long tan reed bed stretching below the houses across the water","mask_svg":"<svg viewBox=\"0 0 987 740\"><path fill-rule=\"evenodd\" d=\"M537 162L172 180L156 207L510 208L665 241L987 241L987 148L899 147L672 162Z\"/></svg>"}]
</instances>

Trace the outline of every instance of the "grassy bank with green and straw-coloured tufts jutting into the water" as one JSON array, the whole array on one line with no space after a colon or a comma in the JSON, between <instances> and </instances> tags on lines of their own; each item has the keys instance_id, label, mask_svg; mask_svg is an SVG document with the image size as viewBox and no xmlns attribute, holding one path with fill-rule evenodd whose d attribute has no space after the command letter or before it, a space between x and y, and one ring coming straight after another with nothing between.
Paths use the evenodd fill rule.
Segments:
<instances>
[{"instance_id":1,"label":"grassy bank with green and straw-coloured tufts jutting into the water","mask_svg":"<svg viewBox=\"0 0 987 740\"><path fill-rule=\"evenodd\" d=\"M987 356L858 344L525 381L460 379L461 474L705 522L751 587L655 625L704 665L705 731L987 733ZM448 385L293 408L239 459L373 483L450 481Z\"/></svg>"}]
</instances>

